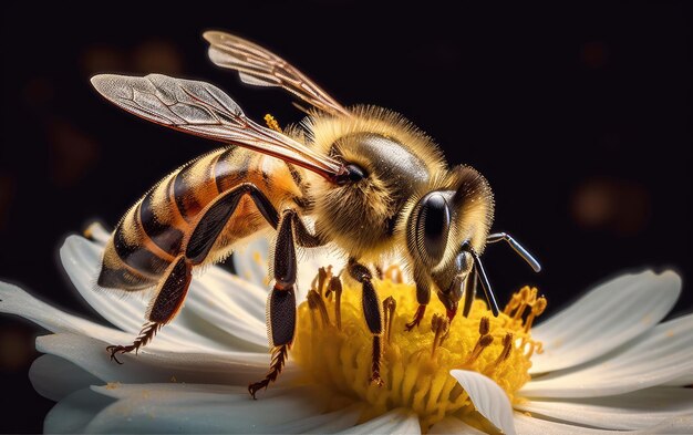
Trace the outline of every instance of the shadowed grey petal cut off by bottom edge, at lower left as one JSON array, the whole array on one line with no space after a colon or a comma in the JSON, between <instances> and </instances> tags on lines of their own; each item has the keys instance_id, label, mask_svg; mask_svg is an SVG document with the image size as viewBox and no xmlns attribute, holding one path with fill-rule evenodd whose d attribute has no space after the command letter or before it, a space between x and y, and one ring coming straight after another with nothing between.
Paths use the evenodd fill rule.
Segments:
<instances>
[{"instance_id":1,"label":"shadowed grey petal cut off by bottom edge, at lower left","mask_svg":"<svg viewBox=\"0 0 693 435\"><path fill-rule=\"evenodd\" d=\"M96 414L113 403L113 398L90 389L80 390L60 401L43 421L46 434L79 434Z\"/></svg>"}]
</instances>

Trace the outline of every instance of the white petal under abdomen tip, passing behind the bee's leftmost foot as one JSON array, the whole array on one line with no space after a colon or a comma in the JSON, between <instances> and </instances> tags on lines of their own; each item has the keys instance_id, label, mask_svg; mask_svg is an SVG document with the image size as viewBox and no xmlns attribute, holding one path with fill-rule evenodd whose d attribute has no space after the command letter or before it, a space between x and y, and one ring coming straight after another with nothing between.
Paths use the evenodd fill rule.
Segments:
<instances>
[{"instance_id":1,"label":"white petal under abdomen tip, passing behind the bee's leftmost foot","mask_svg":"<svg viewBox=\"0 0 693 435\"><path fill-rule=\"evenodd\" d=\"M70 236L60 249L60 257L68 276L80 294L104 319L130 332L132 336L128 340L132 341L145 321L144 315L148 301L144 300L141 293L128 294L117 290L100 290L95 287L102 252L103 249L99 244L82 237ZM236 289L231 288L229 281L228 291L232 292L234 290ZM208 292L201 282L196 282L190 289L190 293L195 293L190 297L196 298L197 294ZM234 345L239 343L239 340L235 341L232 336L228 336L226 333L215 335L211 333L213 330L214 327L209 328L204 318L200 319L195 312L186 312L183 309L176 319L162 330L157 339L154 340L154 344L175 343L173 348L179 350L218 352L234 349ZM258 346L259 344L255 343L256 350L259 349Z\"/></svg>"}]
</instances>

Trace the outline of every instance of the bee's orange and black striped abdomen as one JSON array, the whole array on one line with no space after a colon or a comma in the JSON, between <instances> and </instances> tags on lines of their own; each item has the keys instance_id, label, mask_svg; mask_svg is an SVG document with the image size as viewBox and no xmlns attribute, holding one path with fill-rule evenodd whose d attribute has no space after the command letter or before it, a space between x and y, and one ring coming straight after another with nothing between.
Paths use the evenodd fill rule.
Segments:
<instances>
[{"instance_id":1,"label":"bee's orange and black striped abdomen","mask_svg":"<svg viewBox=\"0 0 693 435\"><path fill-rule=\"evenodd\" d=\"M300 173L285 162L240 147L223 148L173 172L123 217L106 245L99 286L141 290L155 286L185 251L205 207L219 194L252 183L281 210L301 197ZM203 263L228 253L234 242L269 225L244 197Z\"/></svg>"}]
</instances>

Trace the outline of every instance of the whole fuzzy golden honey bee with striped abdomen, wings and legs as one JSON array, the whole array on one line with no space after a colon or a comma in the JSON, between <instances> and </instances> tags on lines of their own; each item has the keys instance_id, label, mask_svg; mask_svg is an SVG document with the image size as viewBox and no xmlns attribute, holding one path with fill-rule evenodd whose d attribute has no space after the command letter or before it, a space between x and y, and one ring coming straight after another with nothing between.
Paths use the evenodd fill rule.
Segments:
<instances>
[{"instance_id":1,"label":"whole fuzzy golden honey bee with striped abdomen, wings and legs","mask_svg":"<svg viewBox=\"0 0 693 435\"><path fill-rule=\"evenodd\" d=\"M505 240L536 270L539 263L510 236L489 234L494 200L469 166L449 168L435 143L401 115L374 106L344 107L303 73L268 50L209 31L209 58L242 82L278 86L312 108L281 131L248 118L218 87L151 74L96 75L94 87L117 106L170 128L227 144L174 170L147 191L116 226L97 283L123 291L155 289L146 322L111 358L136 351L170 322L193 269L220 261L259 231L276 230L273 288L268 298L272 362L256 393L281 372L296 328L297 247L332 244L362 288L373 335L371 382L380 376L383 312L372 266L396 255L416 286L418 325L435 291L452 320L467 315L480 282L498 307L479 256ZM314 228L306 219L314 222ZM463 299L464 298L464 299Z\"/></svg>"}]
</instances>

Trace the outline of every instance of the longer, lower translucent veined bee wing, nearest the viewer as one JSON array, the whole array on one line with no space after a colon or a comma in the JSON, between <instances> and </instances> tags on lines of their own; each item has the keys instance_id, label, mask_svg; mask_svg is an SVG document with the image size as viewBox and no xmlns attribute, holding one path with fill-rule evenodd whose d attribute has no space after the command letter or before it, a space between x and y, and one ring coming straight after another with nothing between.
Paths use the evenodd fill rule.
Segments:
<instances>
[{"instance_id":1,"label":"longer, lower translucent veined bee wing, nearest the viewer","mask_svg":"<svg viewBox=\"0 0 693 435\"><path fill-rule=\"evenodd\" d=\"M92 77L92 84L115 105L157 124L268 154L328 179L344 172L341 163L249 120L231 97L209 83L162 74L103 74Z\"/></svg>"}]
</instances>

